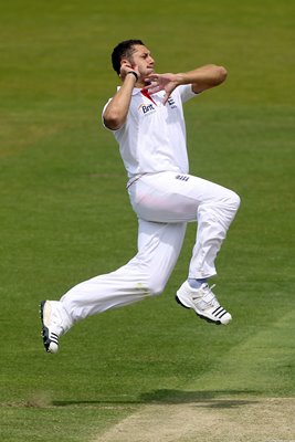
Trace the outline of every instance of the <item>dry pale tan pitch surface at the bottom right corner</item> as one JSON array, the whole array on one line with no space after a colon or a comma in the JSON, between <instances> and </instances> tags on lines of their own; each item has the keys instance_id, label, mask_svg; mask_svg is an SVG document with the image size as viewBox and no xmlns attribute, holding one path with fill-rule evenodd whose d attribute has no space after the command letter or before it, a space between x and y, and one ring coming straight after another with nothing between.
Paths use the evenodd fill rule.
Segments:
<instances>
[{"instance_id":1,"label":"dry pale tan pitch surface at the bottom right corner","mask_svg":"<svg viewBox=\"0 0 295 442\"><path fill-rule=\"evenodd\" d=\"M295 398L151 404L93 442L295 442Z\"/></svg>"}]
</instances>

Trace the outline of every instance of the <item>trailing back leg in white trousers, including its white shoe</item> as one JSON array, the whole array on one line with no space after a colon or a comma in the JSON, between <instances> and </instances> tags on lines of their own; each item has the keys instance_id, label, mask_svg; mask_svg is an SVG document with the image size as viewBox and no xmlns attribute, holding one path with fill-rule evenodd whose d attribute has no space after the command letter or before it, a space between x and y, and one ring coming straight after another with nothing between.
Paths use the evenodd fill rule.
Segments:
<instances>
[{"instance_id":1,"label":"trailing back leg in white trousers, including its white shoe","mask_svg":"<svg viewBox=\"0 0 295 442\"><path fill-rule=\"evenodd\" d=\"M57 351L59 337L74 323L160 294L179 256L185 232L186 223L139 220L138 253L133 260L115 272L77 284L60 302L41 303L46 351Z\"/></svg>"}]
</instances>

